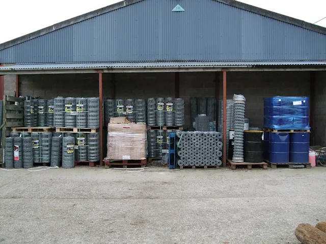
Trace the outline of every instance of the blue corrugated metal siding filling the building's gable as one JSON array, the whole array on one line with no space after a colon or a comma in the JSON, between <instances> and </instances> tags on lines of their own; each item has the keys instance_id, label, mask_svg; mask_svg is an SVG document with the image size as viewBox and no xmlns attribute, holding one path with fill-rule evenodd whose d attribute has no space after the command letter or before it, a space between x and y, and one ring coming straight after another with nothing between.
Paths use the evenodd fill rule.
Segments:
<instances>
[{"instance_id":1,"label":"blue corrugated metal siding filling the building's gable","mask_svg":"<svg viewBox=\"0 0 326 244\"><path fill-rule=\"evenodd\" d=\"M213 0L145 0L0 51L0 63L322 59L326 35Z\"/></svg>"}]
</instances>

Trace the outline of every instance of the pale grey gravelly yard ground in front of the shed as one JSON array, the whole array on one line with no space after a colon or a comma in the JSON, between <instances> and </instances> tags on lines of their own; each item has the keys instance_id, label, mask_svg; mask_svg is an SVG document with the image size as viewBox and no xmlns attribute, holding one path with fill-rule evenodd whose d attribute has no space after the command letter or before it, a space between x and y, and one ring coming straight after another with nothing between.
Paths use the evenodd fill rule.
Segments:
<instances>
[{"instance_id":1,"label":"pale grey gravelly yard ground in front of the shed","mask_svg":"<svg viewBox=\"0 0 326 244\"><path fill-rule=\"evenodd\" d=\"M0 243L299 243L326 168L0 170Z\"/></svg>"}]
</instances>

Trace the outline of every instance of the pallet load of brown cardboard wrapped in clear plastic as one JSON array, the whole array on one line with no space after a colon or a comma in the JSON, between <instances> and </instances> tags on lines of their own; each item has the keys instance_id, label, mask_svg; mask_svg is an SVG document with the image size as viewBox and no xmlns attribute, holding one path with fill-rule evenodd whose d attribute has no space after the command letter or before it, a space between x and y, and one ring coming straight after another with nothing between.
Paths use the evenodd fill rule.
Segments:
<instances>
[{"instance_id":1,"label":"pallet load of brown cardboard wrapped in clear plastic","mask_svg":"<svg viewBox=\"0 0 326 244\"><path fill-rule=\"evenodd\" d=\"M146 125L133 124L128 117L113 117L107 126L107 159L146 159Z\"/></svg>"}]
</instances>

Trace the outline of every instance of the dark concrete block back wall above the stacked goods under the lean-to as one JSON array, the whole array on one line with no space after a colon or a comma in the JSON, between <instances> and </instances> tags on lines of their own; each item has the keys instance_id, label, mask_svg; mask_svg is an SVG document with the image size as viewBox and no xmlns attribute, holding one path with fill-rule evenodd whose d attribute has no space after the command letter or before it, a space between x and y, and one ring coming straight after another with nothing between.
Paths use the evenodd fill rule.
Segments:
<instances>
[{"instance_id":1,"label":"dark concrete block back wall above the stacked goods under the lean-to","mask_svg":"<svg viewBox=\"0 0 326 244\"><path fill-rule=\"evenodd\" d=\"M221 76L220 76L221 78ZM247 99L246 116L251 126L263 125L263 98L309 96L309 72L228 72L227 97L242 94ZM174 97L174 73L117 73L116 98ZM20 95L98 96L98 74L20 75ZM222 79L219 86L222 99ZM103 74L103 96L113 96L111 74ZM191 127L190 98L214 97L214 72L180 73L180 97L185 99L185 128Z\"/></svg>"}]
</instances>

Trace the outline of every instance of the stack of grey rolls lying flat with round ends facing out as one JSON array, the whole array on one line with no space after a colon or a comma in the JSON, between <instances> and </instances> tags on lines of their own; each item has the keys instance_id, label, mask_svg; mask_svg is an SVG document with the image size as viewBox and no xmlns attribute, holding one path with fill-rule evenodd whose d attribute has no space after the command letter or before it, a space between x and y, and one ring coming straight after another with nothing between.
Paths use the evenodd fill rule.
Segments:
<instances>
[{"instance_id":1,"label":"stack of grey rolls lying flat with round ends facing out","mask_svg":"<svg viewBox=\"0 0 326 244\"><path fill-rule=\"evenodd\" d=\"M222 133L177 132L176 135L179 166L222 165Z\"/></svg>"}]
</instances>

